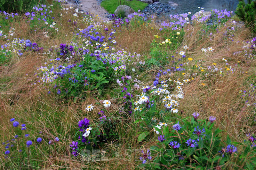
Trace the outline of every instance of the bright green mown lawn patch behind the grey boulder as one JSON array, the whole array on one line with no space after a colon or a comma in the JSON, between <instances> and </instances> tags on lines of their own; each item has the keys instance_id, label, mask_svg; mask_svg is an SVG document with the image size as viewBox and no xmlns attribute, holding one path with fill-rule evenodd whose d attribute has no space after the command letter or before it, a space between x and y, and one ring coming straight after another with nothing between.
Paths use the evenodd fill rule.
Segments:
<instances>
[{"instance_id":1,"label":"bright green mown lawn patch behind the grey boulder","mask_svg":"<svg viewBox=\"0 0 256 170\"><path fill-rule=\"evenodd\" d=\"M137 0L104 0L100 5L109 13L113 14L116 10L116 7L119 5L130 6L134 11L137 12L138 10L142 11L148 4Z\"/></svg>"}]
</instances>

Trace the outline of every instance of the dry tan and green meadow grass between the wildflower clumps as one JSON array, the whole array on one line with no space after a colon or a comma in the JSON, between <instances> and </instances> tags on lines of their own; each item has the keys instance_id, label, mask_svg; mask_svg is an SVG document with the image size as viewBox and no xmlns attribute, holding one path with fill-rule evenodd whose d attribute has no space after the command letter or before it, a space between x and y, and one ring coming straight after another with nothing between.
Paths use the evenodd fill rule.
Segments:
<instances>
[{"instance_id":1,"label":"dry tan and green meadow grass between the wildflower clumps","mask_svg":"<svg viewBox=\"0 0 256 170\"><path fill-rule=\"evenodd\" d=\"M61 11L54 12L60 13ZM62 18L56 19L62 26L58 34L54 34L48 39L44 38L44 30L38 31L38 33L30 33L28 30L31 31L31 28L22 19L13 23L13 27L19 30L14 34L14 37L33 40L38 42L40 47L49 49L51 46L70 41L73 35L71 32L76 31L77 28L87 27L84 22L78 22L77 27L69 26L67 24L69 19L77 19L71 12ZM108 27L111 28L111 24ZM184 87L185 97L179 110L184 110L184 117L191 116L193 112L200 112L203 118L210 115L217 117L216 126L225 130L222 134L222 140L225 140L228 134L234 141L240 142L245 136L242 131L247 133L255 130L249 126L250 117L253 116L252 111L237 97L239 90L247 90L248 85L250 85L249 76L254 74L255 60L249 61L242 55L236 56L237 58L232 56L233 52L241 50L243 41L248 41L251 38L248 37L250 32L248 29L238 28L234 33L234 41L226 41L222 38L225 28L221 27L219 32L214 33L211 39L207 35L203 36L200 32L201 29L201 25L197 25L194 29L185 31L185 38L177 51L183 50L183 45L188 45L188 55L193 58L193 61L197 61L202 59L201 48L211 46L214 51L211 53L211 57L207 58L208 64L217 63L218 68L224 68L226 62L222 58L229 59L230 64L235 64L239 60L243 61L241 70L248 71L248 74L242 73L242 71L240 74L227 74L219 78L218 81L215 81L214 78L195 78L195 81ZM164 41L166 34L160 32L154 24L147 26L140 22L140 24L129 28L122 27L116 31L116 41L118 42L116 48L117 50L126 48L129 52L138 52L140 54L145 53L145 56L150 58L149 49L151 42L154 40L154 34L160 36L159 41ZM237 41L240 41L240 43L237 43ZM1 44L4 43L5 41L1 40ZM126 152L124 149L141 149L142 145L145 147L151 146L151 144L156 143L157 136L152 133L147 140L138 144L138 126L129 122L134 121L132 118L127 122L120 119L121 123L115 129L118 134L118 140L106 144L105 149L108 151L108 157L111 158L108 161L88 163L70 157L69 144L74 140L77 122L84 117L98 121L97 113L99 110L95 108L93 112L85 112L86 105L93 104L96 106L99 100L110 99L113 102L111 108L109 108L109 115L114 115L117 109L123 107L122 101L117 100L122 96L115 91L118 87L113 87L108 92L108 95L89 96L85 100L79 100L74 103L72 100L62 101L58 96L48 95L45 90L31 86L28 78L33 78L36 67L43 65L45 61L52 57L55 56L28 52L20 58L14 56L8 62L8 66L1 66L0 112L3 114L0 119L0 128L2 129L0 136L4 139L3 141L12 138L12 134L17 132L9 122L10 118L15 117L20 123L27 124L26 133L30 134L33 142L36 141L36 137L43 138L40 148L33 155L35 160L30 162L31 166L35 166L32 168L61 169L68 167L86 169L90 167L91 169L101 169L104 167L106 169L134 169L137 165L140 165L141 161L133 159L133 152ZM143 57L141 57L141 61L144 61ZM135 73L131 74L132 77L138 74L137 79L147 85L152 85L152 77L155 77L155 73L158 70L159 67L152 66L151 68L146 68L145 71L136 70ZM28 77L26 77L27 73ZM179 78L182 79L182 75ZM203 86L201 83L206 85ZM243 109L241 109L242 106L244 106ZM42 131L42 133L39 134L39 131ZM60 142L48 145L48 141L54 137L59 137ZM0 145L0 149L4 151L4 146ZM116 150L119 151L120 157L113 156ZM5 160L2 153L0 158ZM25 166L24 169L27 167ZM7 169L4 164L1 164L0 168ZM14 166L13 169L18 169L18 167Z\"/></svg>"}]
</instances>

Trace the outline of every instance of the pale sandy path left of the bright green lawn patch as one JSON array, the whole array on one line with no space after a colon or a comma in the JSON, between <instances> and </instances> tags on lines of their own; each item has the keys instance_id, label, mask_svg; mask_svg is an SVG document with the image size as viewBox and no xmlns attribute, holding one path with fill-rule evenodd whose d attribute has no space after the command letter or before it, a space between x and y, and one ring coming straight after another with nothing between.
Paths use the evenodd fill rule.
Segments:
<instances>
[{"instance_id":1,"label":"pale sandy path left of the bright green lawn patch","mask_svg":"<svg viewBox=\"0 0 256 170\"><path fill-rule=\"evenodd\" d=\"M105 14L108 12L98 5L97 0L81 0L81 5L82 10L92 13L94 16L98 15L103 21L108 21L107 14Z\"/></svg>"}]
</instances>

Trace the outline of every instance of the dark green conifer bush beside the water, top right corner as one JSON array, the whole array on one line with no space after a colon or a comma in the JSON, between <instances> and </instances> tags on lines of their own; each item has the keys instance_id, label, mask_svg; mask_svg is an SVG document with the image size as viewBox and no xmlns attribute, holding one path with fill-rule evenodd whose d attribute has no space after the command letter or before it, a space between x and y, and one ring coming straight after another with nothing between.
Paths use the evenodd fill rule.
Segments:
<instances>
[{"instance_id":1,"label":"dark green conifer bush beside the water, top right corner","mask_svg":"<svg viewBox=\"0 0 256 170\"><path fill-rule=\"evenodd\" d=\"M244 0L239 0L237 5L236 15L245 22L245 26L250 27L253 33L256 33L256 2L248 0L248 3L245 4Z\"/></svg>"}]
</instances>

